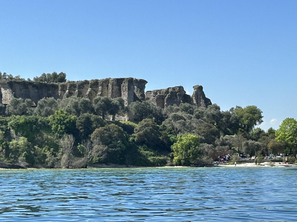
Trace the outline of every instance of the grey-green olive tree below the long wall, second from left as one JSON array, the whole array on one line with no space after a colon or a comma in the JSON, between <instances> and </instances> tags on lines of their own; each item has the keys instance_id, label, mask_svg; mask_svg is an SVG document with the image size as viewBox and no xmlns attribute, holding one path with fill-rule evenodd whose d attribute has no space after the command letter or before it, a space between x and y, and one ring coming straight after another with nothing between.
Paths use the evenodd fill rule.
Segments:
<instances>
[{"instance_id":1,"label":"grey-green olive tree below the long wall, second from left","mask_svg":"<svg viewBox=\"0 0 297 222\"><path fill-rule=\"evenodd\" d=\"M58 110L58 101L53 97L42 98L38 101L34 112L40 116L50 116Z\"/></svg>"}]
</instances>

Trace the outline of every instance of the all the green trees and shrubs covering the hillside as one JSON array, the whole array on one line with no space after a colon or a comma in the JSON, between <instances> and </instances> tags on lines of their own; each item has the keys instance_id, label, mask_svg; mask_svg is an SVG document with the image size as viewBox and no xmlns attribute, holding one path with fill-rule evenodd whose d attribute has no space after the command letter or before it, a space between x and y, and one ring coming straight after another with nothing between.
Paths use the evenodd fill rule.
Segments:
<instances>
[{"instance_id":1,"label":"all the green trees and shrubs covering the hillside","mask_svg":"<svg viewBox=\"0 0 297 222\"><path fill-rule=\"evenodd\" d=\"M66 80L59 76L64 75L38 79ZM1 104L0 161L82 168L96 163L203 166L230 150L259 160L268 153L287 153L291 162L296 157L297 121L287 118L278 130L263 131L256 128L263 116L254 105L222 111L217 104L184 103L162 110L148 101L125 107L123 99L106 96L93 101L43 98L36 107L32 104L20 98ZM133 122L115 121L128 112ZM238 161L236 155L231 160Z\"/></svg>"}]
</instances>

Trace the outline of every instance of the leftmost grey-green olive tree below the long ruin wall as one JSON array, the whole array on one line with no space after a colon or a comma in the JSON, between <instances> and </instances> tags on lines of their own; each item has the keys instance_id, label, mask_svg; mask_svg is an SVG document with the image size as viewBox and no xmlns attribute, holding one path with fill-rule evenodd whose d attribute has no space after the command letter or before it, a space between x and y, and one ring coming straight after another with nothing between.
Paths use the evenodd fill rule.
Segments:
<instances>
[{"instance_id":1,"label":"leftmost grey-green olive tree below the long ruin wall","mask_svg":"<svg viewBox=\"0 0 297 222\"><path fill-rule=\"evenodd\" d=\"M31 115L33 113L32 100L12 98L6 106L7 115Z\"/></svg>"}]
</instances>

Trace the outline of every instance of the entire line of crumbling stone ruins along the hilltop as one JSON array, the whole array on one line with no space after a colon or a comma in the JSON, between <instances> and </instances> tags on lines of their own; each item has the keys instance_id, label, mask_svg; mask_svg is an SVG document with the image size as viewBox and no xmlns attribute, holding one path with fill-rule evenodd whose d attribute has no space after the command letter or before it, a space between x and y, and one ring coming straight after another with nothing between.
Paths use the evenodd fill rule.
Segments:
<instances>
[{"instance_id":1,"label":"entire line of crumbling stone ruins along the hilltop","mask_svg":"<svg viewBox=\"0 0 297 222\"><path fill-rule=\"evenodd\" d=\"M161 108L181 103L189 103L199 107L211 105L206 98L202 86L193 86L192 97L187 95L182 86L157 89L144 93L147 81L136 78L106 78L90 81L68 81L65 83L41 83L31 81L0 82L0 103L9 104L12 98L31 99L35 105L44 97L63 99L77 96L93 100L96 96L110 98L121 97L125 106L135 101L151 101ZM123 117L121 119L128 119ZM130 117L132 120L132 117Z\"/></svg>"}]
</instances>

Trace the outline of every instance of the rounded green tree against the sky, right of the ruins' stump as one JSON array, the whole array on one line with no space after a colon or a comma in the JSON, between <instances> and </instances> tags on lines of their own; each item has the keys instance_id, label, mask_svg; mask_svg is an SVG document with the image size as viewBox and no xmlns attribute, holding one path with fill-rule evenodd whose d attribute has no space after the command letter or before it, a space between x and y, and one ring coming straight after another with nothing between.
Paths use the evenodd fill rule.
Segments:
<instances>
[{"instance_id":1,"label":"rounded green tree against the sky, right of the ruins' stump","mask_svg":"<svg viewBox=\"0 0 297 222\"><path fill-rule=\"evenodd\" d=\"M255 105L244 108L236 106L234 112L239 118L240 128L246 133L249 133L254 126L263 123L262 110Z\"/></svg>"}]
</instances>

